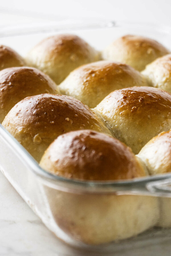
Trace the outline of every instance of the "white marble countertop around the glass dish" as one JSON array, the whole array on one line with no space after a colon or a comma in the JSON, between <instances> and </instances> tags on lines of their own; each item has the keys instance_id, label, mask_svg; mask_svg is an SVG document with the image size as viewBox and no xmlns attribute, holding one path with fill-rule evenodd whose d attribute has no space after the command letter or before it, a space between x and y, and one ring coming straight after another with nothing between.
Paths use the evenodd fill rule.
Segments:
<instances>
[{"instance_id":1,"label":"white marble countertop around the glass dish","mask_svg":"<svg viewBox=\"0 0 171 256\"><path fill-rule=\"evenodd\" d=\"M7 2L9 1L5 3L7 4ZM155 11L153 11L153 14L154 13ZM142 15L140 15L140 21L141 19ZM5 13L0 9L0 26L5 24L9 25L11 23L36 22L41 20L44 19L26 16L23 18L21 15L18 15L16 19L16 15L10 12ZM160 20L162 20L162 17L160 17ZM1 172L0 203L0 256L99 256L99 253L96 254L95 252L80 252L59 241L33 213ZM170 251L170 238L166 237L160 239L155 245L142 245L139 248L130 248L126 252L121 250L116 252L115 256L170 256ZM113 254L111 255L113 256Z\"/></svg>"}]
</instances>

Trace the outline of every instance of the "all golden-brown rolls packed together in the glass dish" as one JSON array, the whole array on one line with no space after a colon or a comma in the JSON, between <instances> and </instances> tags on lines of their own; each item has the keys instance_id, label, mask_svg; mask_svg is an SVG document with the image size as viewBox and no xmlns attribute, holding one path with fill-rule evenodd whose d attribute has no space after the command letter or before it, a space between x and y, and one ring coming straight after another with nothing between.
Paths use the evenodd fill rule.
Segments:
<instances>
[{"instance_id":1,"label":"all golden-brown rolls packed together in the glass dish","mask_svg":"<svg viewBox=\"0 0 171 256\"><path fill-rule=\"evenodd\" d=\"M0 69L0 122L46 171L92 186L171 171L171 55L157 41L126 35L100 53L55 35L25 61L0 47ZM56 225L86 244L171 226L170 199L43 189Z\"/></svg>"}]
</instances>

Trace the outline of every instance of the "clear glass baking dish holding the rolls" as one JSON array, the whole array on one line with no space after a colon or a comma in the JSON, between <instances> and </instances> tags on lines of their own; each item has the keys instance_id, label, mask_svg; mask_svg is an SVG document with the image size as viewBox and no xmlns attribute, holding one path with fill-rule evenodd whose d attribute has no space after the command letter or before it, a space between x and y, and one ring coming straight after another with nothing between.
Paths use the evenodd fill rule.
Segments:
<instances>
[{"instance_id":1,"label":"clear glass baking dish holding the rolls","mask_svg":"<svg viewBox=\"0 0 171 256\"><path fill-rule=\"evenodd\" d=\"M31 26L1 27L0 39L1 44L10 46L25 56L38 41L57 33L79 35L98 50L125 34L150 37L168 48L170 48L171 41L170 27L103 20L60 21ZM158 212L161 211L161 200L171 203L169 199L171 197L171 173L118 182L69 180L41 169L31 155L1 125L0 145L2 173L43 223L69 245L78 247L79 250L97 252L98 255L104 255L104 253L111 255L119 250L127 250L131 246L140 247L144 243L158 243L163 237L171 237L171 229L156 227L160 213L156 216L149 215L156 204ZM120 199L123 199L118 204L121 208L117 206L117 200ZM115 217L121 214L119 225L122 224L124 218L127 223L136 221L135 213L132 217L123 218L120 212L121 209L126 211L124 202L128 205L129 200L137 204L141 203L141 206L145 205L148 208L146 215L143 216L144 219L141 220L143 222L140 225L141 231L133 231L130 226L130 233L125 234L125 239L115 239L112 225L115 226L118 219L112 219L113 223L110 222L114 212ZM108 213L106 213L107 202L110 202ZM146 228L147 219L152 217L154 217L152 224ZM96 219L96 224L92 224L91 219ZM105 232L106 239L103 235ZM94 239L92 242L92 237L96 235L99 239Z\"/></svg>"}]
</instances>

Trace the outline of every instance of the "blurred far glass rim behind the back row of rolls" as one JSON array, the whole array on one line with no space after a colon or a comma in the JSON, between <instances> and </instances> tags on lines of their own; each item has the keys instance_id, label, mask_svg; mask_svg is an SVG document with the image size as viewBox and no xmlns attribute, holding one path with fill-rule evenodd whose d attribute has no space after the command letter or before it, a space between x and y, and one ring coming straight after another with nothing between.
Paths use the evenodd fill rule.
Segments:
<instances>
[{"instance_id":1,"label":"blurred far glass rim behind the back row of rolls","mask_svg":"<svg viewBox=\"0 0 171 256\"><path fill-rule=\"evenodd\" d=\"M29 34L52 33L63 30L102 29L110 27L144 27L153 28L156 31L171 33L171 26L161 23L135 23L133 21L114 21L107 19L84 18L0 26L0 38Z\"/></svg>"}]
</instances>

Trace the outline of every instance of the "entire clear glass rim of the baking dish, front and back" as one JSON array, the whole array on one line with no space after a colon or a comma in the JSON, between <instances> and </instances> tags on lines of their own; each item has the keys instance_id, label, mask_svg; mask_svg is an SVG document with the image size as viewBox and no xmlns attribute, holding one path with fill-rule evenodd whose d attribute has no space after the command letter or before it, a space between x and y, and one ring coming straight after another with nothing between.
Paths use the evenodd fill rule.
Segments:
<instances>
[{"instance_id":1,"label":"entire clear glass rim of the baking dish, front and back","mask_svg":"<svg viewBox=\"0 0 171 256\"><path fill-rule=\"evenodd\" d=\"M79 23L80 21L80 23ZM171 27L168 25L153 24L153 23L134 23L125 21L111 21L111 20L63 20L63 21L50 21L46 23L32 23L31 25L15 25L0 27L0 38L13 37L20 35L29 35L37 33L51 33L63 30L83 30L83 29L102 29L110 27L151 27L156 31L162 31L171 34ZM24 29L24 31L23 31ZM68 187L74 189L86 189L86 191L99 193L110 193L116 191L137 191L139 188L146 188L147 184L167 181L171 179L171 173L162 175L146 176L143 178L135 178L132 180L122 181L80 181L76 179L67 179L58 175L53 175L42 169L38 162L28 153L28 151L0 124L0 135L5 139L6 143L15 150L21 161L31 169L35 175L56 185L57 187Z\"/></svg>"}]
</instances>

